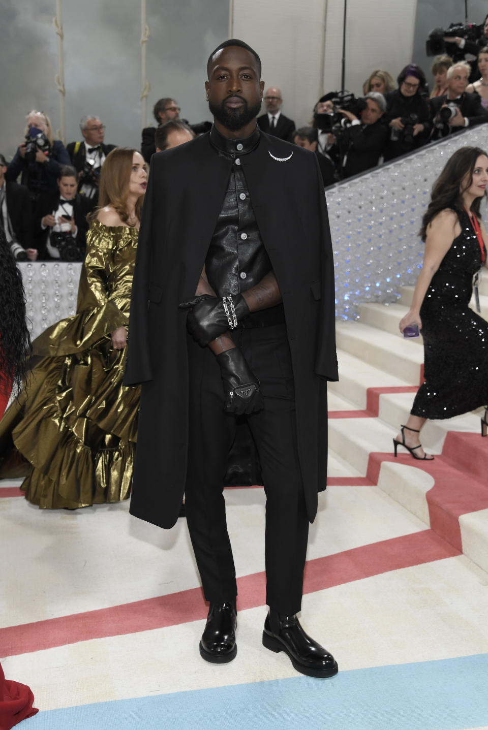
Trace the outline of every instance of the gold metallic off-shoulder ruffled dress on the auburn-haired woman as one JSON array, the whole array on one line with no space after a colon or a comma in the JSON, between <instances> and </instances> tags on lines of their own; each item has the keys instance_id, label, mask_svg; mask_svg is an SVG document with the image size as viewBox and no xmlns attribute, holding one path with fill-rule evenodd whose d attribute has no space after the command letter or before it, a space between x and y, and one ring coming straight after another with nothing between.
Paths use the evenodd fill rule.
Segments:
<instances>
[{"instance_id":1,"label":"gold metallic off-shoulder ruffled dress on the auburn-haired woman","mask_svg":"<svg viewBox=\"0 0 488 730\"><path fill-rule=\"evenodd\" d=\"M110 335L129 324L137 233L91 224L77 314L34 340L28 386L0 422L0 478L19 475L20 454L22 489L39 507L129 496L140 391L122 385L126 348Z\"/></svg>"}]
</instances>

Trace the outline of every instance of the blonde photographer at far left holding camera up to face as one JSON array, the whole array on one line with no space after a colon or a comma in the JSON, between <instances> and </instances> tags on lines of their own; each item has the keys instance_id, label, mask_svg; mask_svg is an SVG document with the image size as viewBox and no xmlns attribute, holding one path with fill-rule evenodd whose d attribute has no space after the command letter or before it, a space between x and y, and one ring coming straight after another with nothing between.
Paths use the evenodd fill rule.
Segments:
<instances>
[{"instance_id":1,"label":"blonde photographer at far left holding camera up to face","mask_svg":"<svg viewBox=\"0 0 488 730\"><path fill-rule=\"evenodd\" d=\"M22 142L7 168L5 179L26 185L32 201L41 193L56 190L60 165L69 164L63 142L53 141L53 129L44 112L32 110L27 115L25 142Z\"/></svg>"}]
</instances>

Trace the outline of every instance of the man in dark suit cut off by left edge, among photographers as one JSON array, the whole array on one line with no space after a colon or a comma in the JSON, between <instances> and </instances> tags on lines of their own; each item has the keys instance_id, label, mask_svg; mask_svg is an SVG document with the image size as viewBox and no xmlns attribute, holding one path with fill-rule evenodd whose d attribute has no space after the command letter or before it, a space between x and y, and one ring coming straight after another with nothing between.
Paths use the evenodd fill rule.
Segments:
<instances>
[{"instance_id":1,"label":"man in dark suit cut off by left edge, among photographers","mask_svg":"<svg viewBox=\"0 0 488 730\"><path fill-rule=\"evenodd\" d=\"M17 261L35 261L37 249L32 240L32 204L26 185L7 182L7 161L0 155L0 228Z\"/></svg>"}]
</instances>

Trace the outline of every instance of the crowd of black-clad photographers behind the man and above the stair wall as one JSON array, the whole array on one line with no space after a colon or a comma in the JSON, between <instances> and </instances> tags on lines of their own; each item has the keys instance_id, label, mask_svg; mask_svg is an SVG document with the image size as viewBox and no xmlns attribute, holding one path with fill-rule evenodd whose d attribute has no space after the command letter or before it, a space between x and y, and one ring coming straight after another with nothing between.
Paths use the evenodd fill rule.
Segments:
<instances>
[{"instance_id":1,"label":"crowd of black-clad photographers behind the man and above the stair wall","mask_svg":"<svg viewBox=\"0 0 488 730\"><path fill-rule=\"evenodd\" d=\"M259 127L315 153L324 185L365 172L422 145L488 122L488 15L481 26L435 28L427 40L435 56L432 91L416 64L396 82L384 69L370 73L363 96L335 91L321 96L308 126L295 128L283 112L279 88L264 93ZM141 152L150 161L202 134L209 122L188 125L171 97L157 101L156 126L142 130ZM99 174L115 145L104 142L95 115L80 122L83 139L65 148L53 139L44 112L28 113L24 141L7 164L0 154L0 228L18 261L82 261L87 216L96 207Z\"/></svg>"}]
</instances>

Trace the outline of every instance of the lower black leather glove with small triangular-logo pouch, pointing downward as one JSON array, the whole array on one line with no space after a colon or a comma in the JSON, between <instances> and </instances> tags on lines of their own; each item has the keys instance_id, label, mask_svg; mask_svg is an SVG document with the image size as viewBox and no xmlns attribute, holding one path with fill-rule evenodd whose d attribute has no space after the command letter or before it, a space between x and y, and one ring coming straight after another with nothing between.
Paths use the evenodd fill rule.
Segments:
<instances>
[{"instance_id":1,"label":"lower black leather glove with small triangular-logo pouch, pointing downward","mask_svg":"<svg viewBox=\"0 0 488 730\"><path fill-rule=\"evenodd\" d=\"M259 380L251 372L243 353L237 348L217 356L224 384L226 413L253 413L264 407Z\"/></svg>"}]
</instances>

